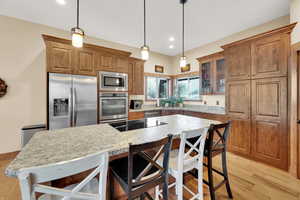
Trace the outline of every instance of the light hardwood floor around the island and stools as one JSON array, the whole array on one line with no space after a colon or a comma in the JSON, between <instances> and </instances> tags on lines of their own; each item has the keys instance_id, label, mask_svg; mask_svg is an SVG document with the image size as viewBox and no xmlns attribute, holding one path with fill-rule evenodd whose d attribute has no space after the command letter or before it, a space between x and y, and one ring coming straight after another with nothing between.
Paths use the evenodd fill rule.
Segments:
<instances>
[{"instance_id":1,"label":"light hardwood floor around the island and stools","mask_svg":"<svg viewBox=\"0 0 300 200\"><path fill-rule=\"evenodd\" d=\"M5 167L10 160L0 161L0 200L19 200L18 182L4 175ZM220 163L219 157L214 160L215 166ZM228 154L229 178L234 199L236 200L300 200L300 180L290 174L250 161L239 156ZM220 178L216 178L216 181ZM186 177L186 184L197 190L196 181ZM209 192L205 187L205 200L209 200ZM185 193L185 198L189 195ZM170 199L176 199L174 190L170 191ZM217 199L227 198L224 187L217 191Z\"/></svg>"}]
</instances>

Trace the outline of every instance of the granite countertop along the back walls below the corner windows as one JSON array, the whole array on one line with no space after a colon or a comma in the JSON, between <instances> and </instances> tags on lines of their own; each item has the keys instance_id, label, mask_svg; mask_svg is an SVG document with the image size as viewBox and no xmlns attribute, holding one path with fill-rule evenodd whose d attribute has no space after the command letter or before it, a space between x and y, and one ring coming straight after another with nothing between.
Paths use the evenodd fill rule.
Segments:
<instances>
[{"instance_id":1,"label":"granite countertop along the back walls below the corner windows","mask_svg":"<svg viewBox=\"0 0 300 200\"><path fill-rule=\"evenodd\" d=\"M152 110L182 110L182 111L193 111L217 115L225 115L225 108L218 106L187 106L187 107L154 107L154 106L144 106L142 109L132 110L129 112L144 112Z\"/></svg>"}]
</instances>

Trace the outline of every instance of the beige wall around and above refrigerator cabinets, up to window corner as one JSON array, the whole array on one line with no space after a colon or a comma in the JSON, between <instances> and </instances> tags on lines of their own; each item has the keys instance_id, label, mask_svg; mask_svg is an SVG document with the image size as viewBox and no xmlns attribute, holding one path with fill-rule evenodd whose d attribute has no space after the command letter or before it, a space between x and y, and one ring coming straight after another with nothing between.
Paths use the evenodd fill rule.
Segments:
<instances>
[{"instance_id":1,"label":"beige wall around and above refrigerator cabinets, up to window corner","mask_svg":"<svg viewBox=\"0 0 300 200\"><path fill-rule=\"evenodd\" d=\"M46 120L46 57L41 34L70 38L70 33L15 18L0 16L0 78L8 85L8 93L0 98L0 154L20 149L20 129ZM139 57L139 49L96 38L88 43L130 51ZM170 73L171 59L151 53L146 72L154 65L165 66Z\"/></svg>"}]
</instances>

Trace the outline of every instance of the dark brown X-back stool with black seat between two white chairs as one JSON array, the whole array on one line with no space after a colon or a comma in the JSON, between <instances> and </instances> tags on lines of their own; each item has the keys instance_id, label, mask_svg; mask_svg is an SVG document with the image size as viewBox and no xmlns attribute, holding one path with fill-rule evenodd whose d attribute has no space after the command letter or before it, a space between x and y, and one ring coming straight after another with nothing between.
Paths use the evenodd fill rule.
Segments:
<instances>
[{"instance_id":1,"label":"dark brown X-back stool with black seat between two white chairs","mask_svg":"<svg viewBox=\"0 0 300 200\"><path fill-rule=\"evenodd\" d=\"M121 185L128 196L128 200L140 197L153 199L148 191L159 184L163 184L163 199L168 200L168 167L172 135L145 144L129 144L128 157L114 160L110 163L111 174ZM155 151L154 156L148 152ZM163 165L157 159L163 154ZM111 181L111 196L113 184Z\"/></svg>"}]
</instances>

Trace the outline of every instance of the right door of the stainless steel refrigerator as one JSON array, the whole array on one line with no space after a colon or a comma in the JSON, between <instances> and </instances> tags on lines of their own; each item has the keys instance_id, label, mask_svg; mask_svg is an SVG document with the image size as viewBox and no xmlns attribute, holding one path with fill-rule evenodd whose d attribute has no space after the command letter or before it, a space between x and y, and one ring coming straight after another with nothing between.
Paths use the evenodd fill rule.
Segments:
<instances>
[{"instance_id":1,"label":"right door of the stainless steel refrigerator","mask_svg":"<svg viewBox=\"0 0 300 200\"><path fill-rule=\"evenodd\" d=\"M73 75L73 126L97 124L97 78Z\"/></svg>"}]
</instances>

